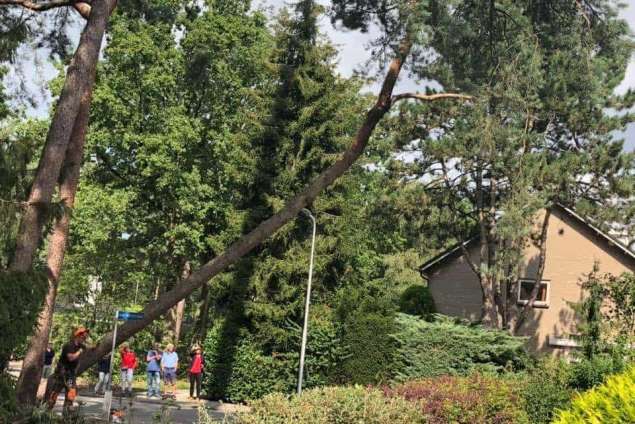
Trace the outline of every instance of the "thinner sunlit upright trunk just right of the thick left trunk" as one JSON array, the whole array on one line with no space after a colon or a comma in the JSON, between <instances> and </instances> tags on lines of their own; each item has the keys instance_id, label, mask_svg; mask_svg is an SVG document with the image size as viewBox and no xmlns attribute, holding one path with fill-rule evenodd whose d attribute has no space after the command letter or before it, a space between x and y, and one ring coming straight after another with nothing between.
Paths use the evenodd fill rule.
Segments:
<instances>
[{"instance_id":1,"label":"thinner sunlit upright trunk just right of the thick left trunk","mask_svg":"<svg viewBox=\"0 0 635 424\"><path fill-rule=\"evenodd\" d=\"M86 140L90 114L90 98L91 92L87 87L84 90L81 107L75 119L73 134L64 159L62 175L60 176L60 198L64 203L64 211L62 216L56 220L53 232L49 238L47 258L48 292L44 300L44 307L38 317L37 326L29 340L22 371L18 379L16 395L18 403L21 405L35 404L40 378L42 377L42 358L49 341L51 323L53 322L57 286L68 240L70 210L75 204L75 193L77 193L77 185L79 184L79 171L84 155L84 141Z\"/></svg>"}]
</instances>

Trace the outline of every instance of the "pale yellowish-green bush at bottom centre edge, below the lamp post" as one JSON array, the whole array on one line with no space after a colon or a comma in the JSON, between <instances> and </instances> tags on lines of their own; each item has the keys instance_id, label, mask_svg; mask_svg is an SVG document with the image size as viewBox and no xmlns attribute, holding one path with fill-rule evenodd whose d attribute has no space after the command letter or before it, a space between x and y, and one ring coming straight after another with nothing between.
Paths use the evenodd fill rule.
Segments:
<instances>
[{"instance_id":1,"label":"pale yellowish-green bush at bottom centre edge, below the lamp post","mask_svg":"<svg viewBox=\"0 0 635 424\"><path fill-rule=\"evenodd\" d=\"M202 423L212 423L209 417ZM301 396L276 393L251 404L251 411L237 414L236 424L424 424L415 404L399 397L386 398L377 389L324 387Z\"/></svg>"}]
</instances>

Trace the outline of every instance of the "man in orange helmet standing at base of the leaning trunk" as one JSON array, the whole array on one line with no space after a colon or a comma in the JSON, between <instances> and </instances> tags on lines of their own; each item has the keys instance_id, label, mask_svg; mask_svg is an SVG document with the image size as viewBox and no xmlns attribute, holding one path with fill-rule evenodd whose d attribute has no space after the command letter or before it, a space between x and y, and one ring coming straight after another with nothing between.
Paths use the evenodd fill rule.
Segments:
<instances>
[{"instance_id":1,"label":"man in orange helmet standing at base of the leaning trunk","mask_svg":"<svg viewBox=\"0 0 635 424\"><path fill-rule=\"evenodd\" d=\"M75 374L79 365L79 356L86 350L84 343L87 337L88 329L79 327L73 331L71 341L62 347L55 372L46 383L44 399L49 409L53 409L57 396L62 390L65 391L64 407L66 408L73 404L73 400L75 400L77 395Z\"/></svg>"}]
</instances>

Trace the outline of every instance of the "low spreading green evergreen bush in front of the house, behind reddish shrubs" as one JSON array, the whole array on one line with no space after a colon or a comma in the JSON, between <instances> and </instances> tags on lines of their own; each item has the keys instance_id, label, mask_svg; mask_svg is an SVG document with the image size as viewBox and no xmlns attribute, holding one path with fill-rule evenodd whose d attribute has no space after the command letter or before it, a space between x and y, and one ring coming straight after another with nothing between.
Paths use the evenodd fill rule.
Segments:
<instances>
[{"instance_id":1,"label":"low spreading green evergreen bush in front of the house, behind reddish shrubs","mask_svg":"<svg viewBox=\"0 0 635 424\"><path fill-rule=\"evenodd\" d=\"M525 339L503 331L464 325L435 315L434 322L398 314L393 334L396 381L439 375L468 375L474 371L521 370L530 362Z\"/></svg>"}]
</instances>

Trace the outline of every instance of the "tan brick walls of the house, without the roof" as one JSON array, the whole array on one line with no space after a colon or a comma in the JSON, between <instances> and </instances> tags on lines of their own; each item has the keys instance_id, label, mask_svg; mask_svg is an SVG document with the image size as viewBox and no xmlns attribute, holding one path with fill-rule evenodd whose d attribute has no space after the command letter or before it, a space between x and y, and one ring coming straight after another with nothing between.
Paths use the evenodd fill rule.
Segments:
<instances>
[{"instance_id":1,"label":"tan brick walls of the house, without the roof","mask_svg":"<svg viewBox=\"0 0 635 424\"><path fill-rule=\"evenodd\" d=\"M478 263L478 250L470 255ZM524 277L535 278L539 251L527 249ZM572 218L554 209L547 233L547 256L543 279L549 281L549 306L533 308L520 334L529 337L529 347L538 352L566 353L549 346L549 336L567 337L576 333L576 317L572 302L583 297L581 278L589 273L594 262L601 273L620 275L633 272L635 261L610 246L605 238ZM440 313L477 320L481 310L481 290L478 279L462 256L441 264L429 275L429 287Z\"/></svg>"}]
</instances>

